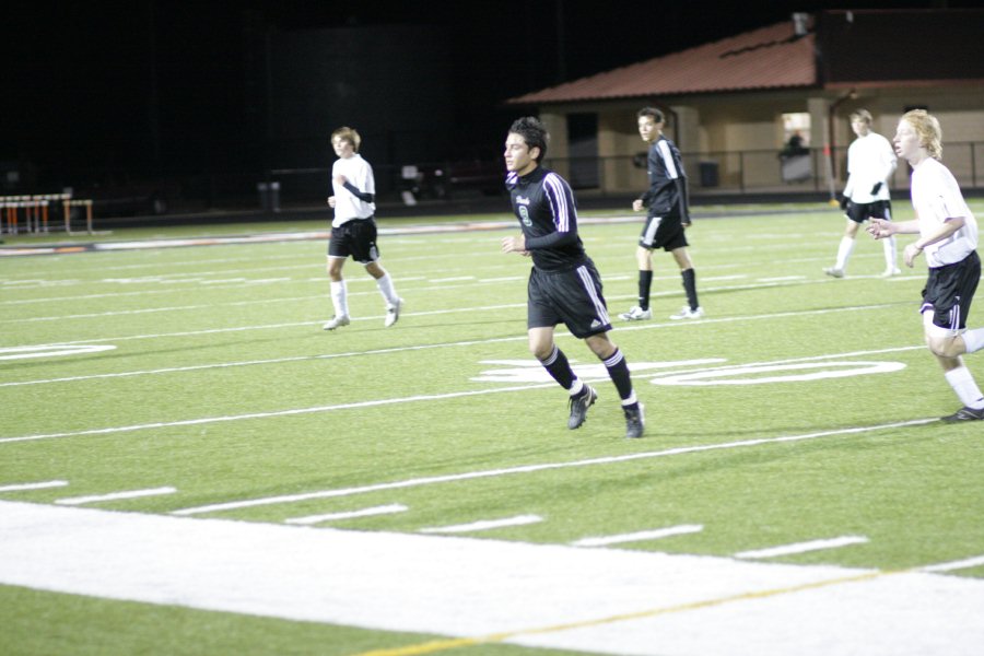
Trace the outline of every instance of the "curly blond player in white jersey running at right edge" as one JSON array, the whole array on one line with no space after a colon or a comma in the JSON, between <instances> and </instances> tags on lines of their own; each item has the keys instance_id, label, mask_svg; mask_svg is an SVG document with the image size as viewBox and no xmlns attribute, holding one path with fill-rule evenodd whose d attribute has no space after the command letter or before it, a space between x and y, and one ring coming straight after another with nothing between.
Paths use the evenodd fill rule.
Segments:
<instances>
[{"instance_id":1,"label":"curly blond player in white jersey running at right edge","mask_svg":"<svg viewBox=\"0 0 984 656\"><path fill-rule=\"evenodd\" d=\"M942 420L980 420L984 419L984 395L961 359L964 353L984 348L984 328L967 330L967 316L981 279L977 222L953 174L940 162L941 140L939 121L924 109L902 116L893 141L895 152L913 168L912 206L916 218L902 223L872 219L868 232L876 239L899 233L919 235L905 247L902 259L912 267L921 253L926 257L929 278L919 307L926 344L963 403Z\"/></svg>"}]
</instances>

